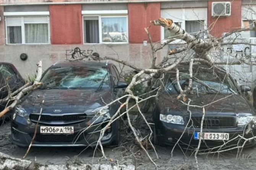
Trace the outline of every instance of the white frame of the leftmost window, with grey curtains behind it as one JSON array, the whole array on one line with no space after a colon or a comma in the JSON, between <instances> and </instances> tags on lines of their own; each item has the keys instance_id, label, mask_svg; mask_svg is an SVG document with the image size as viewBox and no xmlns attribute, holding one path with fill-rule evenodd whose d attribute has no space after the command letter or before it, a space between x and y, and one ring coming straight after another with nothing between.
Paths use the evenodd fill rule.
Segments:
<instances>
[{"instance_id":1,"label":"white frame of the leftmost window, with grey curtains behind it","mask_svg":"<svg viewBox=\"0 0 256 170\"><path fill-rule=\"evenodd\" d=\"M8 17L21 17L21 44L12 44L12 43L8 43L8 32L7 32L7 24L6 24L6 20L8 19ZM25 24L29 24L29 23L24 23L24 17L47 17L47 24L48 24L48 43L26 43L26 38L25 38ZM45 24L45 23L31 23L31 24ZM49 15L23 15L23 16L15 16L15 15L7 15L5 16L5 44L6 45L39 45L39 44L51 44L51 38L50 38L50 17Z\"/></svg>"}]
</instances>

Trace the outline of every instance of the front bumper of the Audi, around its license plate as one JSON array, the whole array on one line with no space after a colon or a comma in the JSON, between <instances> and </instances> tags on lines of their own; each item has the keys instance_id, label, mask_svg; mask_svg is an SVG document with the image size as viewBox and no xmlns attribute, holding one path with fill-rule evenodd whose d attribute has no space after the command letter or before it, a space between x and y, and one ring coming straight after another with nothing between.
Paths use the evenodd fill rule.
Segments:
<instances>
[{"instance_id":1,"label":"front bumper of the Audi, around its license plate","mask_svg":"<svg viewBox=\"0 0 256 170\"><path fill-rule=\"evenodd\" d=\"M244 129L244 127L203 129L203 132L229 133L229 142L227 143L227 140L201 140L201 148L214 148L222 145L223 147L243 145L244 140L238 138L238 135L241 135L244 138L256 136L256 129L252 128L251 132L248 134L244 133ZM179 145L191 148L197 147L199 143L199 140L194 140L194 132L200 132L200 128L188 127L185 130L184 125L169 124L165 122L161 122L159 129L156 129L157 138L159 141L163 141L163 144L174 145L178 142ZM255 139L249 140L246 142L246 146L251 146L255 143Z\"/></svg>"}]
</instances>

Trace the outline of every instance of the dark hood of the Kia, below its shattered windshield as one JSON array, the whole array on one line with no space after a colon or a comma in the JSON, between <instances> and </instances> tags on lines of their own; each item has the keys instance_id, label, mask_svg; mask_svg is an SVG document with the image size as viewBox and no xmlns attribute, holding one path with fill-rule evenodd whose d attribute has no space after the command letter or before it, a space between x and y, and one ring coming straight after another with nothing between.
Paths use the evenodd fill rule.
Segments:
<instances>
[{"instance_id":1,"label":"dark hood of the Kia, below its shattered windshield","mask_svg":"<svg viewBox=\"0 0 256 170\"><path fill-rule=\"evenodd\" d=\"M28 94L20 105L31 113L39 113L44 100L43 113L53 113L53 109L73 113L104 106L111 99L112 93L105 89L99 92L95 89L37 89Z\"/></svg>"}]
</instances>

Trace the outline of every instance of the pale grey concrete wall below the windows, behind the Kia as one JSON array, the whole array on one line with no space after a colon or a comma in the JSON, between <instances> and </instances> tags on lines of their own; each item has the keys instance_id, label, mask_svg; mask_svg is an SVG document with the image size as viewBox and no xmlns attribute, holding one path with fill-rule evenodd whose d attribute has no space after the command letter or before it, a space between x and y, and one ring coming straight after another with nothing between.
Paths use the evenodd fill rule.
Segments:
<instances>
[{"instance_id":1,"label":"pale grey concrete wall below the windows, behind the Kia","mask_svg":"<svg viewBox=\"0 0 256 170\"><path fill-rule=\"evenodd\" d=\"M112 56L122 60L128 60L132 64L146 68L151 64L151 47L149 44L98 44L98 45L3 45L0 46L0 61L11 62L26 78L36 73L36 63L43 61L43 70L46 70L57 61L66 59L66 50L79 47L80 49L92 49L100 56ZM21 53L28 54L28 59L19 58ZM157 62L167 55L167 48L157 52ZM69 56L70 57L70 56ZM118 65L117 65L118 66ZM125 68L126 70L129 68Z\"/></svg>"}]
</instances>

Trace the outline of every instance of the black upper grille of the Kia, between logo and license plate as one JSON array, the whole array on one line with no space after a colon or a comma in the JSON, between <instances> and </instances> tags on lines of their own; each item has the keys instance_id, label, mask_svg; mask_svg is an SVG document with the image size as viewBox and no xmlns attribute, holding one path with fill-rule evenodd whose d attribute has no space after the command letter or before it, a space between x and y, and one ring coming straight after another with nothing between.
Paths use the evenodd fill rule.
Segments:
<instances>
[{"instance_id":1,"label":"black upper grille of the Kia, between logo and license plate","mask_svg":"<svg viewBox=\"0 0 256 170\"><path fill-rule=\"evenodd\" d=\"M29 118L32 122L37 122L39 119L39 114L31 113ZM77 114L63 114L63 115L50 115L42 113L40 118L41 124L71 124L82 122L86 119L86 114L77 113Z\"/></svg>"}]
</instances>

